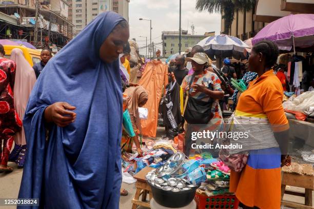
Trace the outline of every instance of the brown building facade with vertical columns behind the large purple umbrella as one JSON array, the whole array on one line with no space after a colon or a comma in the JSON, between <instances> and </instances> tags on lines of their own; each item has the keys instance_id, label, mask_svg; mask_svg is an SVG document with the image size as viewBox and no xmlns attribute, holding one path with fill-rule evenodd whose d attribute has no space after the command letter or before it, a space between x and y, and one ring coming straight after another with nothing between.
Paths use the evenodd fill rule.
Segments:
<instances>
[{"instance_id":1,"label":"brown building facade with vertical columns behind the large purple umbrella","mask_svg":"<svg viewBox=\"0 0 314 209\"><path fill-rule=\"evenodd\" d=\"M259 0L256 7L247 12L234 12L229 35L242 40L254 37L268 23L283 16L297 13L314 13L313 0ZM224 31L224 19L221 20Z\"/></svg>"}]
</instances>

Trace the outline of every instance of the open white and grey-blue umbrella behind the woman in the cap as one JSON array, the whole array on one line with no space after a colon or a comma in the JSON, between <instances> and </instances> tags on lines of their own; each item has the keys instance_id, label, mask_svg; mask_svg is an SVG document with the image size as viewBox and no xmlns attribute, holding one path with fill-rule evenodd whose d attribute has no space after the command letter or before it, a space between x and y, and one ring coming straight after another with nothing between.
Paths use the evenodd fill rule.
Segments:
<instances>
[{"instance_id":1,"label":"open white and grey-blue umbrella behind the woman in the cap","mask_svg":"<svg viewBox=\"0 0 314 209\"><path fill-rule=\"evenodd\" d=\"M242 40L230 35L209 36L201 40L197 45L204 48L210 58L214 57L234 57L235 59L245 59L243 54L245 48L249 48Z\"/></svg>"}]
</instances>

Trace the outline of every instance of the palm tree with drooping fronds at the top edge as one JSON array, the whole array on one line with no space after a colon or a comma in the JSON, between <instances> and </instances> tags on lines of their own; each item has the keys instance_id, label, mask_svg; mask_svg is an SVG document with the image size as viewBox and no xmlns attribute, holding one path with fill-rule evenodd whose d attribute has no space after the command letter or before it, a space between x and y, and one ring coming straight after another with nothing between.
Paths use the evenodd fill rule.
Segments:
<instances>
[{"instance_id":1,"label":"palm tree with drooping fronds at the top edge","mask_svg":"<svg viewBox=\"0 0 314 209\"><path fill-rule=\"evenodd\" d=\"M209 13L221 12L224 22L224 34L229 34L234 11L249 11L254 8L256 0L197 0L196 9L200 12L207 10ZM244 12L245 13L245 12Z\"/></svg>"}]
</instances>

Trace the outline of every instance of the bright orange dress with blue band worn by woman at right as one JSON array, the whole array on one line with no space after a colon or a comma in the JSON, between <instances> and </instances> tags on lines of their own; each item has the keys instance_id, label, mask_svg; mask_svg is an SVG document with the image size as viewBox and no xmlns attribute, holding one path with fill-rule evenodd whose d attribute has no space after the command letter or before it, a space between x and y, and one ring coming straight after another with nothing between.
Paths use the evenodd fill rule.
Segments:
<instances>
[{"instance_id":1,"label":"bright orange dress with blue band worn by woman at right","mask_svg":"<svg viewBox=\"0 0 314 209\"><path fill-rule=\"evenodd\" d=\"M268 118L273 132L289 128L282 107L283 89L273 71L251 81L240 96L235 116ZM281 204L279 148L252 150L242 172L231 171L230 192L249 207L279 209Z\"/></svg>"}]
</instances>

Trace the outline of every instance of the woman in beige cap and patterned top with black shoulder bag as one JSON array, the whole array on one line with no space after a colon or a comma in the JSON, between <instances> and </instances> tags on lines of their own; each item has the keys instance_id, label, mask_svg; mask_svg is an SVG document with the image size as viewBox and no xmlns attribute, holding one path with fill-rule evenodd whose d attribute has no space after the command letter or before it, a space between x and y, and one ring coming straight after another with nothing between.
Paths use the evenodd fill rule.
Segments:
<instances>
[{"instance_id":1,"label":"woman in beige cap and patterned top with black shoulder bag","mask_svg":"<svg viewBox=\"0 0 314 209\"><path fill-rule=\"evenodd\" d=\"M223 98L224 92L221 89L221 80L218 76L206 70L211 66L211 60L205 53L195 53L193 57L187 58L187 61L191 61L194 71L193 74L187 75L183 79L181 85L183 91L189 96L184 114L188 123L186 134L186 152L188 154L191 149L191 137L189 135L191 132L195 132L195 128L199 132L203 132L203 130L219 131L223 128L224 121L219 107L219 99ZM199 112L195 112L193 108L189 108L191 102L199 104L198 107L204 107L204 109L201 108ZM205 143L209 142L206 141Z\"/></svg>"}]
</instances>

